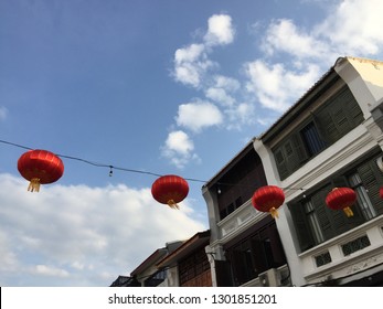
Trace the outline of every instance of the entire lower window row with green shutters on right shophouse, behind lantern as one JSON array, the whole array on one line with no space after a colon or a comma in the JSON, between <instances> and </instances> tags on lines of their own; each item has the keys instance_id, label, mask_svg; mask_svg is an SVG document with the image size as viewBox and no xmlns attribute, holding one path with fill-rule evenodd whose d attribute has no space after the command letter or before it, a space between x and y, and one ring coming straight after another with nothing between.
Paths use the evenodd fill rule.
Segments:
<instances>
[{"instance_id":1,"label":"entire lower window row with green shutters on right shophouse, behind lantern","mask_svg":"<svg viewBox=\"0 0 383 309\"><path fill-rule=\"evenodd\" d=\"M376 148L371 157L366 154L344 173L329 177L326 183L288 203L301 252L383 215L383 199L380 198L383 173L376 164L380 156L382 151ZM349 187L357 192L353 216L348 217L342 211L326 205L327 194L336 187Z\"/></svg>"}]
</instances>

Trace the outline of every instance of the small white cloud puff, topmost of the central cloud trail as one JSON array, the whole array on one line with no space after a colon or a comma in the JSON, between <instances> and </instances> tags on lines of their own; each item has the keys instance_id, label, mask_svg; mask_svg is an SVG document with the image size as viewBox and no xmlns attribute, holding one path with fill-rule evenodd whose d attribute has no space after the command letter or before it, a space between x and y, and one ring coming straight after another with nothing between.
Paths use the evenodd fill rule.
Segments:
<instances>
[{"instance_id":1,"label":"small white cloud puff, topmost of the central cloud trail","mask_svg":"<svg viewBox=\"0 0 383 309\"><path fill-rule=\"evenodd\" d=\"M226 14L212 15L208 21L209 28L204 36L208 45L226 45L234 41L235 31L232 18Z\"/></svg>"}]
</instances>

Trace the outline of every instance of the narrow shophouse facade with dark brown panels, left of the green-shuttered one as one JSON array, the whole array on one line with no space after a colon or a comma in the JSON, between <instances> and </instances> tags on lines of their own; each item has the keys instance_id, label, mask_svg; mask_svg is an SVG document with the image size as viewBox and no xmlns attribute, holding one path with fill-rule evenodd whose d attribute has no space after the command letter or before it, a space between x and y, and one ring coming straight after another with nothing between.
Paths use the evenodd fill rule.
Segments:
<instances>
[{"instance_id":1,"label":"narrow shophouse facade with dark brown panels, left of the green-shuttered one","mask_svg":"<svg viewBox=\"0 0 383 309\"><path fill-rule=\"evenodd\" d=\"M289 285L276 221L251 203L254 191L266 184L260 157L249 142L202 188L213 286Z\"/></svg>"}]
</instances>

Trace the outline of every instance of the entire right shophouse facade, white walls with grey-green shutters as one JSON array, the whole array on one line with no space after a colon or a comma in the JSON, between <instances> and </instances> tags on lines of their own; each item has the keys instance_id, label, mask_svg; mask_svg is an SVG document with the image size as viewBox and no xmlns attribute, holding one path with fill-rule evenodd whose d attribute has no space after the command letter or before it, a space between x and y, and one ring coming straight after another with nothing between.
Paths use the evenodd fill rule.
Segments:
<instances>
[{"instance_id":1,"label":"entire right shophouse facade, white walls with grey-green shutters","mask_svg":"<svg viewBox=\"0 0 383 309\"><path fill-rule=\"evenodd\" d=\"M277 226L294 285L383 285L382 106L383 63L341 57L254 140L286 194ZM326 205L340 187L357 192L352 217Z\"/></svg>"}]
</instances>

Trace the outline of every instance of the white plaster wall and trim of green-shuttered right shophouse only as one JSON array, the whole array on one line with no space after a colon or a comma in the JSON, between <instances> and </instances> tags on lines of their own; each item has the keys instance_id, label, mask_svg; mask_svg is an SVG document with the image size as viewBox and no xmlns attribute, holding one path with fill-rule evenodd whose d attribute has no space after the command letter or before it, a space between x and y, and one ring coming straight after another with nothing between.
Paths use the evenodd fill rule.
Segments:
<instances>
[{"instance_id":1,"label":"white plaster wall and trim of green-shuttered right shophouse only","mask_svg":"<svg viewBox=\"0 0 383 309\"><path fill-rule=\"evenodd\" d=\"M291 280L296 286L321 283L330 278L329 276L337 278L348 277L361 269L379 265L383 262L382 216L359 226L350 233L344 233L339 237L299 254L299 244L292 220L286 206L286 203L300 195L302 190L312 188L320 181L328 179L336 171L347 167L377 145L383 148L382 129L376 124L376 119L372 118L370 111L372 106L375 108L376 104L383 102L383 63L343 58L336 64L334 70L349 85L360 104L364 118L366 119L362 125L323 150L284 181L279 179L270 148L265 147L262 140L254 140L254 148L263 161L267 182L284 188L286 194L285 205L279 209L279 219L276 220L276 223L290 267ZM337 88L337 85L334 85L334 88ZM300 121L299 119L296 120L295 124L298 125ZM291 124L292 126L294 124ZM288 130L285 130L285 134L288 134ZM283 136L279 137L279 140ZM352 256L343 256L340 251L340 244L344 244L362 234L369 236L371 246L357 252ZM330 252L332 262L328 265L317 267L315 256L326 251Z\"/></svg>"}]
</instances>

